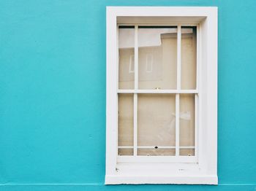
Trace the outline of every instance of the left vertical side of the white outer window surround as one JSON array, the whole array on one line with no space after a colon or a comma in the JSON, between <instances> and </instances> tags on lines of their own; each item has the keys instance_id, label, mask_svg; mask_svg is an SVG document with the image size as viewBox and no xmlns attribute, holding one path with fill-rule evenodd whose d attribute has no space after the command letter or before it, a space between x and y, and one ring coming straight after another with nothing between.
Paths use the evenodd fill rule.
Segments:
<instances>
[{"instance_id":1,"label":"left vertical side of the white outer window surround","mask_svg":"<svg viewBox=\"0 0 256 191\"><path fill-rule=\"evenodd\" d=\"M118 89L118 45L114 12L107 13L107 79L106 79L106 176L116 173L117 162L117 94ZM113 49L114 47L114 49ZM111 51L111 52L110 52ZM113 64L114 63L114 64Z\"/></svg>"}]
</instances>

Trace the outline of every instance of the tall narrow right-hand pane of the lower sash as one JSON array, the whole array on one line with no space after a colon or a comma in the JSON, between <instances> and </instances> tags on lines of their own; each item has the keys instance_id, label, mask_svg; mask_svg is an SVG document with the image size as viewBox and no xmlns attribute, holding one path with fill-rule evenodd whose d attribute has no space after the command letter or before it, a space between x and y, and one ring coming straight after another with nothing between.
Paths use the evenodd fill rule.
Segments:
<instances>
[{"instance_id":1,"label":"tall narrow right-hand pane of the lower sash","mask_svg":"<svg viewBox=\"0 0 256 191\"><path fill-rule=\"evenodd\" d=\"M195 146L195 95L180 95L180 146Z\"/></svg>"}]
</instances>

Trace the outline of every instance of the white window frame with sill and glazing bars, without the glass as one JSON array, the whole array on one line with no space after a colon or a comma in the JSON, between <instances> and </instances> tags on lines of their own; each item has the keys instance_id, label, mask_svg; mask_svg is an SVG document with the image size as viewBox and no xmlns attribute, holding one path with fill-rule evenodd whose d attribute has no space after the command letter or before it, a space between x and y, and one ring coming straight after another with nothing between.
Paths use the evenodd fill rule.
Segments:
<instances>
[{"instance_id":1,"label":"white window frame with sill and glazing bars, without the glass","mask_svg":"<svg viewBox=\"0 0 256 191\"><path fill-rule=\"evenodd\" d=\"M197 93L195 157L118 157L118 93L129 93L129 90L118 90L117 37L118 25L122 24L135 26L135 30L138 30L138 25L176 25L178 31L181 26L197 26L197 89L156 90L156 93ZM138 47L136 42L138 41L135 40L135 47ZM178 50L179 46L178 43ZM135 48L136 57L138 51ZM179 58L178 56L177 59ZM138 59L135 59L135 82L138 82L137 68ZM177 68L181 70L180 64ZM177 73L178 78L179 75L180 72ZM106 90L105 184L218 184L217 7L107 7ZM131 90L130 93L134 93L135 90ZM147 90L136 91L152 93ZM179 113L177 109L176 113ZM137 109L135 110L136 118ZM136 141L136 136L134 139Z\"/></svg>"}]
</instances>

